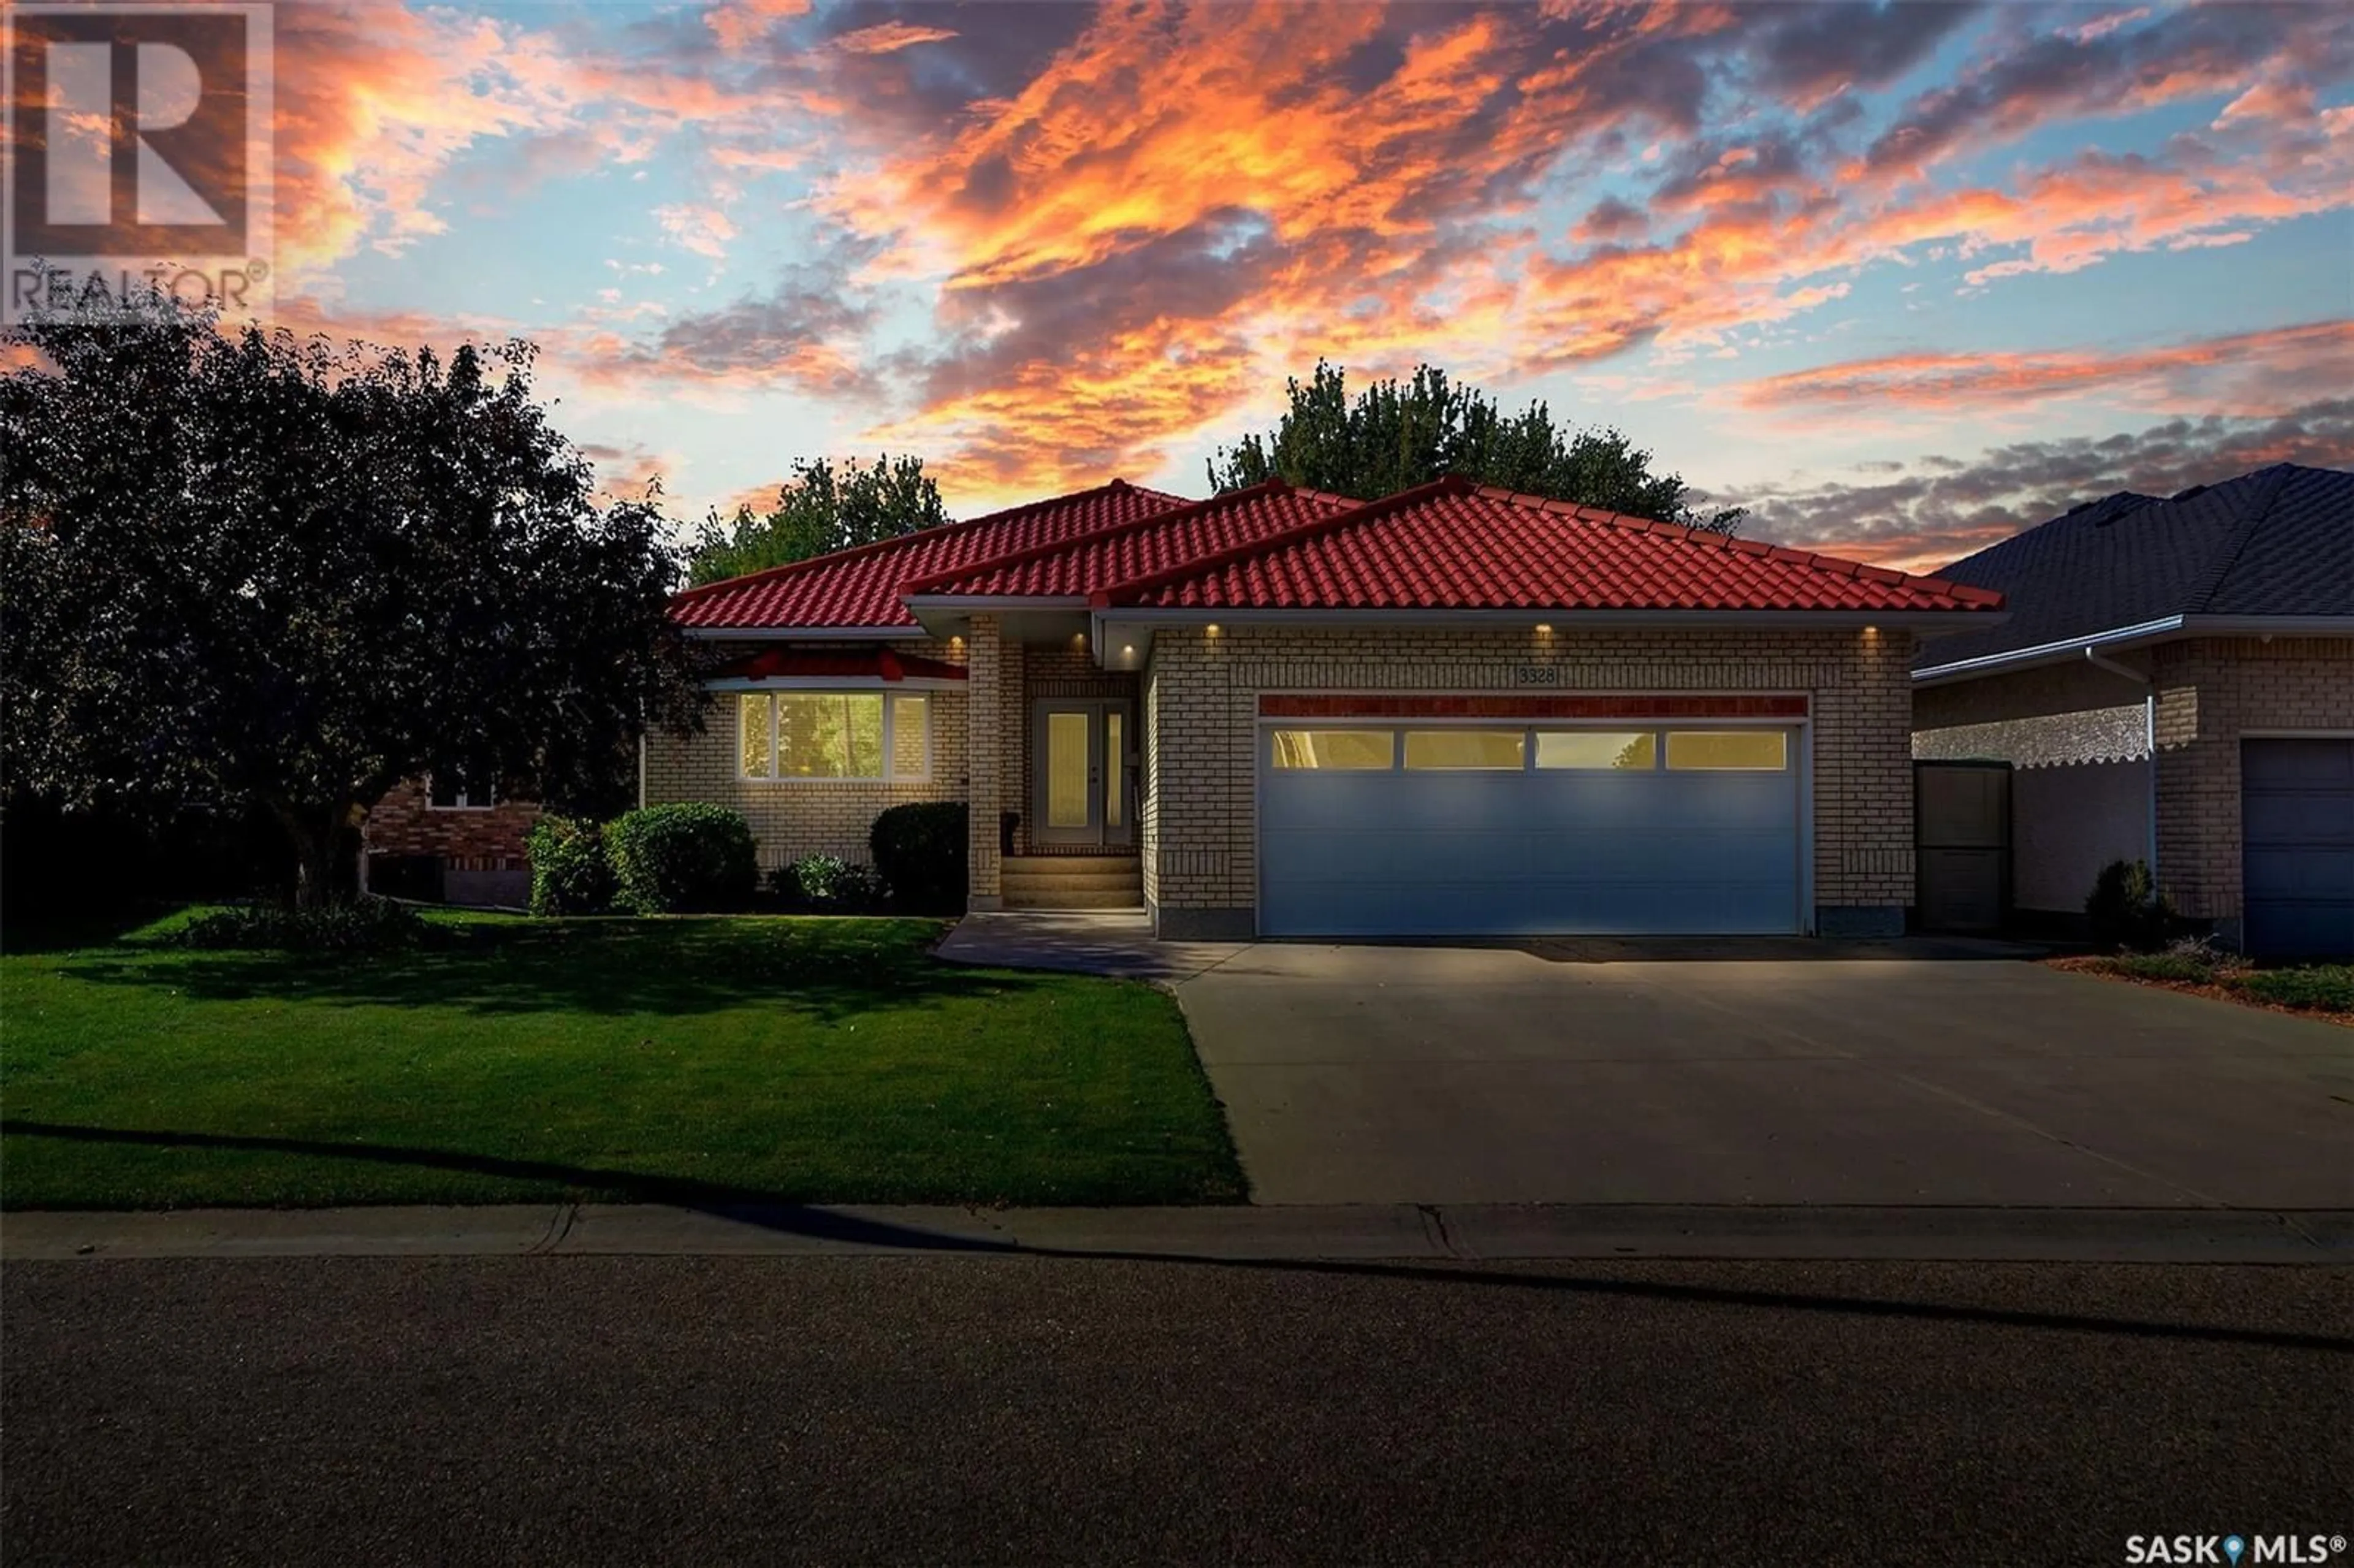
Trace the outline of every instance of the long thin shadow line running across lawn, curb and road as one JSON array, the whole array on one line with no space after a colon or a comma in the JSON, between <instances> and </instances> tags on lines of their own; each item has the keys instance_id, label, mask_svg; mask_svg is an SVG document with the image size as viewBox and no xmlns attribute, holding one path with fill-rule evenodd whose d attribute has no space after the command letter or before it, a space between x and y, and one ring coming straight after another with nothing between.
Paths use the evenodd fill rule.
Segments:
<instances>
[{"instance_id":1,"label":"long thin shadow line running across lawn, curb and road","mask_svg":"<svg viewBox=\"0 0 2354 1568\"><path fill-rule=\"evenodd\" d=\"M1015 1238L970 1236L956 1231L932 1231L918 1224L899 1224L871 1215L852 1215L840 1208L782 1201L777 1194L730 1187L720 1182L697 1182L694 1177L661 1177L629 1170L591 1170L553 1161L516 1161L487 1154L445 1154L435 1149L403 1149L388 1144L327 1144L301 1137L238 1137L221 1132L144 1132L129 1128L78 1128L45 1121L0 1121L0 1132L14 1137L61 1137L99 1144L144 1144L162 1149L233 1149L242 1154L294 1154L332 1156L355 1161L381 1161L395 1165L431 1165L464 1170L471 1175L511 1177L527 1182L551 1182L570 1189L574 1198L614 1196L629 1203L669 1203L737 1224L814 1241L838 1241L887 1250L923 1253L979 1253L996 1257L1062 1257L1083 1262L1168 1262L1210 1269L1238 1269L1259 1274L1339 1274L1356 1278L1424 1281L1438 1285L1488 1285L1530 1293L1570 1293L1598 1297L1636 1297L1650 1302L1681 1302L1704 1307L1740 1307L1770 1311L1834 1314L1857 1318L1916 1318L1930 1323L1980 1323L1996 1328L2027 1328L2050 1333L2095 1333L2126 1340L2187 1340L2250 1344L2265 1349L2300 1351L2354 1351L2354 1340L2328 1333L2293 1333L2272 1328L2234 1328L2220 1323L2168 1323L2149 1318L2104 1318L2074 1311L2036 1311L2015 1307L1977 1307L1956 1302L1909 1302L1900 1297L1824 1295L1803 1290L1702 1285L1655 1278L1610 1278L1594 1274L1561 1271L1499 1271L1478 1264L1422 1264L1422 1262L1354 1262L1314 1257L1212 1257L1201 1253L1170 1253L1149 1248L1057 1248L1033 1245ZM553 1241L553 1234L551 1234ZM544 1250L541 1243L532 1250ZM1575 1267L1563 1262L1556 1267Z\"/></svg>"}]
</instances>

